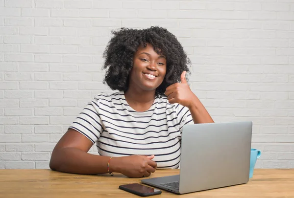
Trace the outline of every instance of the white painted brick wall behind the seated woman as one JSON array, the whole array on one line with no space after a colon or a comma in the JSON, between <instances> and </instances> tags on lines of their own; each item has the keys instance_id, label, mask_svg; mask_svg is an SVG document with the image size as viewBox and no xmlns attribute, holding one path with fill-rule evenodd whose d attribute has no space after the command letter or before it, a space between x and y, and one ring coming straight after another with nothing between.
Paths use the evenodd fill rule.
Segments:
<instances>
[{"instance_id":1,"label":"white painted brick wall behind the seated woman","mask_svg":"<svg viewBox=\"0 0 294 198\"><path fill-rule=\"evenodd\" d=\"M150 25L178 37L216 122L253 121L258 168L294 168L294 0L0 0L0 169L49 168L76 115L109 91L111 30Z\"/></svg>"}]
</instances>

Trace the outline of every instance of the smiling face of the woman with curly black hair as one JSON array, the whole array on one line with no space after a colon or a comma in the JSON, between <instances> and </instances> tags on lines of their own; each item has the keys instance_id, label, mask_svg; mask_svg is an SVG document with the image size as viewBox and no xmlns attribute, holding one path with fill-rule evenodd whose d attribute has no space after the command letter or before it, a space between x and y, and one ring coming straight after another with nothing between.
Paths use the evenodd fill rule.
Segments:
<instances>
[{"instance_id":1,"label":"smiling face of the woman with curly black hair","mask_svg":"<svg viewBox=\"0 0 294 198\"><path fill-rule=\"evenodd\" d=\"M167 60L163 55L157 54L153 46L147 43L138 47L134 54L133 68L130 71L129 88L135 86L146 91L155 90L163 82Z\"/></svg>"}]
</instances>

